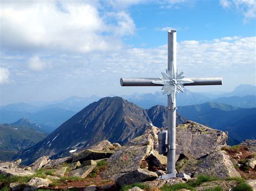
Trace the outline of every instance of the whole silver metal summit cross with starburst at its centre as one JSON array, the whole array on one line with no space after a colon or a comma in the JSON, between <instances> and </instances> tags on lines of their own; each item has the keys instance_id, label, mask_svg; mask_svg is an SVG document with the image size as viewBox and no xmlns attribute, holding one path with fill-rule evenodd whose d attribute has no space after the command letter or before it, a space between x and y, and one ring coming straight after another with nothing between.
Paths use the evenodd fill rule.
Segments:
<instances>
[{"instance_id":1,"label":"whole silver metal summit cross with starburst at its centre","mask_svg":"<svg viewBox=\"0 0 256 191\"><path fill-rule=\"evenodd\" d=\"M176 177L176 93L184 91L184 86L221 85L222 77L185 78L183 72L176 69L177 40L176 31L168 31L168 69L159 78L122 78L121 86L163 86L167 93L167 174L162 179ZM160 153L161 154L161 153Z\"/></svg>"}]
</instances>

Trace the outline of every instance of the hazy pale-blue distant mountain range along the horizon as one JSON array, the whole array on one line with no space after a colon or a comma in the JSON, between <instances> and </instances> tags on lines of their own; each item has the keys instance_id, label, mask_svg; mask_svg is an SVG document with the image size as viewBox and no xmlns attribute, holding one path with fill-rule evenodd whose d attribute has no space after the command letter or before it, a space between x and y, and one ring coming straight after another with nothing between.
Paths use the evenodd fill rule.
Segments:
<instances>
[{"instance_id":1,"label":"hazy pale-blue distant mountain range along the horizon","mask_svg":"<svg viewBox=\"0 0 256 191\"><path fill-rule=\"evenodd\" d=\"M158 91L154 94L134 93L122 95L121 97L144 109L149 109L154 105L167 104L166 95ZM41 126L50 126L52 132L78 111L99 99L100 97L95 95L91 97L72 96L62 101L15 103L0 106L0 123L13 123L18 119L26 117ZM256 107L255 86L244 84L236 87L231 93L211 96L206 93L193 93L185 89L184 93L180 93L177 96L178 106L206 102L226 103L240 108L254 108Z\"/></svg>"}]
</instances>

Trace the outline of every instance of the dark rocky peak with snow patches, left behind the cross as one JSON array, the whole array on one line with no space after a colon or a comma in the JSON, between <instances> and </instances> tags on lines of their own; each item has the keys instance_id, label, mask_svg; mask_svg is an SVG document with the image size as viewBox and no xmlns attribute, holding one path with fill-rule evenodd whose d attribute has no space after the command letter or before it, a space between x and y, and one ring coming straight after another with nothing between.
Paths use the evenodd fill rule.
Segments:
<instances>
[{"instance_id":1,"label":"dark rocky peak with snow patches, left behind the cross","mask_svg":"<svg viewBox=\"0 0 256 191\"><path fill-rule=\"evenodd\" d=\"M48 137L13 159L22 159L22 164L29 165L43 155L51 159L66 157L105 139L124 145L152 125L165 127L166 118L167 111L163 106L145 110L121 97L105 97L88 105ZM177 115L177 124L185 121Z\"/></svg>"}]
</instances>

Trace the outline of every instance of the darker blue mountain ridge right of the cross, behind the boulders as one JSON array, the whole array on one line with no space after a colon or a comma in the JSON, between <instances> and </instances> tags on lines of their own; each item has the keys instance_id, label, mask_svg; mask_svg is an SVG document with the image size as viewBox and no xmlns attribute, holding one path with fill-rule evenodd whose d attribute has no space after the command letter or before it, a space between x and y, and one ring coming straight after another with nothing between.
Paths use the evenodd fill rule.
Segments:
<instances>
[{"instance_id":1,"label":"darker blue mountain ridge right of the cross, behind the boulders","mask_svg":"<svg viewBox=\"0 0 256 191\"><path fill-rule=\"evenodd\" d=\"M214 129L228 131L229 140L256 139L256 108L238 108L224 103L178 107L180 115Z\"/></svg>"}]
</instances>

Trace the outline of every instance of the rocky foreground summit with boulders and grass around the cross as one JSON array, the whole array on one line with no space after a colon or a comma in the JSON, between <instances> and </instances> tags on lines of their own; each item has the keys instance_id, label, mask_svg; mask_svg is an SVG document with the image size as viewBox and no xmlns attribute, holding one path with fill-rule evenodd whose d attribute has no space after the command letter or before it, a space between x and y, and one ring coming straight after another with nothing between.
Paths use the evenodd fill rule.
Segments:
<instances>
[{"instance_id":1,"label":"rocky foreground summit with boulders and grass around the cross","mask_svg":"<svg viewBox=\"0 0 256 191\"><path fill-rule=\"evenodd\" d=\"M123 146L102 140L70 157L43 156L30 166L21 166L21 159L2 162L0 188L253 190L255 187L255 152L245 143L227 146L225 132L192 121L177 126L177 178L162 180L167 157L157 151L159 132L160 129L151 126ZM252 147L253 142L248 145Z\"/></svg>"}]
</instances>

